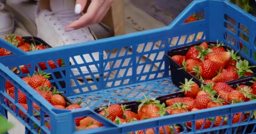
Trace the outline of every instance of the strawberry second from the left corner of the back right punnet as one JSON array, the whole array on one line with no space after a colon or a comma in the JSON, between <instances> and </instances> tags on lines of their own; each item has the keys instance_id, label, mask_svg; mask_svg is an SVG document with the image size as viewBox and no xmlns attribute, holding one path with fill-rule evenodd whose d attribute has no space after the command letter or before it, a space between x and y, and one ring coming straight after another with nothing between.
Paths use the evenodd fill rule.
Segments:
<instances>
[{"instance_id":1,"label":"strawberry second from the left corner of the back right punnet","mask_svg":"<svg viewBox=\"0 0 256 134\"><path fill-rule=\"evenodd\" d=\"M181 69L184 69L185 71L189 72L191 75L195 75L195 71L193 70L193 68L198 64L200 64L199 59L187 59L186 61L184 60L182 62L183 67Z\"/></svg>"}]
</instances>

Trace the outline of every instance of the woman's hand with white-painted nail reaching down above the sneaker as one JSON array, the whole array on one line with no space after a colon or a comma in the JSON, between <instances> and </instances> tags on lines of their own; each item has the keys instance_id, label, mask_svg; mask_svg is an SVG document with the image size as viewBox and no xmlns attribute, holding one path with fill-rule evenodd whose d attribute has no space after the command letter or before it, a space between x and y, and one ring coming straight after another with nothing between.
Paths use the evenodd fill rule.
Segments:
<instances>
[{"instance_id":1,"label":"woman's hand with white-painted nail reaching down above the sneaker","mask_svg":"<svg viewBox=\"0 0 256 134\"><path fill-rule=\"evenodd\" d=\"M91 0L91 4L89 5L87 12L78 20L70 23L66 27L66 30L82 28L84 26L100 23L113 2L114 0ZM86 3L87 0L76 0L75 13L81 13L85 9Z\"/></svg>"}]
</instances>

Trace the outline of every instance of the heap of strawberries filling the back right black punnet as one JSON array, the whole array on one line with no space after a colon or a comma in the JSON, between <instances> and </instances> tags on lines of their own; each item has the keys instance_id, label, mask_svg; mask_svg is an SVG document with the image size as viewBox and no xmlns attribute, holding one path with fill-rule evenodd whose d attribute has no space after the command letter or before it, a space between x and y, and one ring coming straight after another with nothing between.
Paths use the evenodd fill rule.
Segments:
<instances>
[{"instance_id":1,"label":"heap of strawberries filling the back right black punnet","mask_svg":"<svg viewBox=\"0 0 256 134\"><path fill-rule=\"evenodd\" d=\"M247 60L241 60L237 52L225 50L224 44L209 45L207 42L193 46L186 55L174 55L171 58L181 68L204 83L217 83L236 80L252 75Z\"/></svg>"}]
</instances>

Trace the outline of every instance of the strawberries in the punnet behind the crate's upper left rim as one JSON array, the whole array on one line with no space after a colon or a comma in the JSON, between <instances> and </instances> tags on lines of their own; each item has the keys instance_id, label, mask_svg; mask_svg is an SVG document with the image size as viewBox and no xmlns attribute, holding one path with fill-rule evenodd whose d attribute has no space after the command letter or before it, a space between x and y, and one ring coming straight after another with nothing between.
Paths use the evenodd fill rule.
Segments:
<instances>
[{"instance_id":1,"label":"strawberries in the punnet behind the crate's upper left rim","mask_svg":"<svg viewBox=\"0 0 256 134\"><path fill-rule=\"evenodd\" d=\"M22 39L20 36L16 36L14 34L10 34L9 36L5 36L5 41L8 41L10 44L12 44L13 46L18 47L19 49L21 49L24 52L30 52L30 51L36 51L36 50L41 50L41 49L48 49L48 47L43 46L43 44L35 44L35 41L33 44L29 44L27 42L24 42L24 39ZM5 48L0 48L0 57L2 56L7 56L7 55L12 55L13 53L8 51ZM63 67L65 64L61 59L57 59L56 62L54 62L53 60L51 61L47 61L49 67L51 69L53 68L57 68L56 63L59 65L59 67ZM31 68L31 65L28 65L29 68ZM40 62L38 63L38 66L40 67L40 70L47 70L47 65L45 64L45 62ZM27 74L29 73L29 69L27 67L27 65L21 65L19 66L20 71L23 74ZM19 74L20 71L18 70L17 67L13 67L11 68L11 70L13 72L15 72L16 74ZM38 71L38 68L35 67L35 70Z\"/></svg>"}]
</instances>

